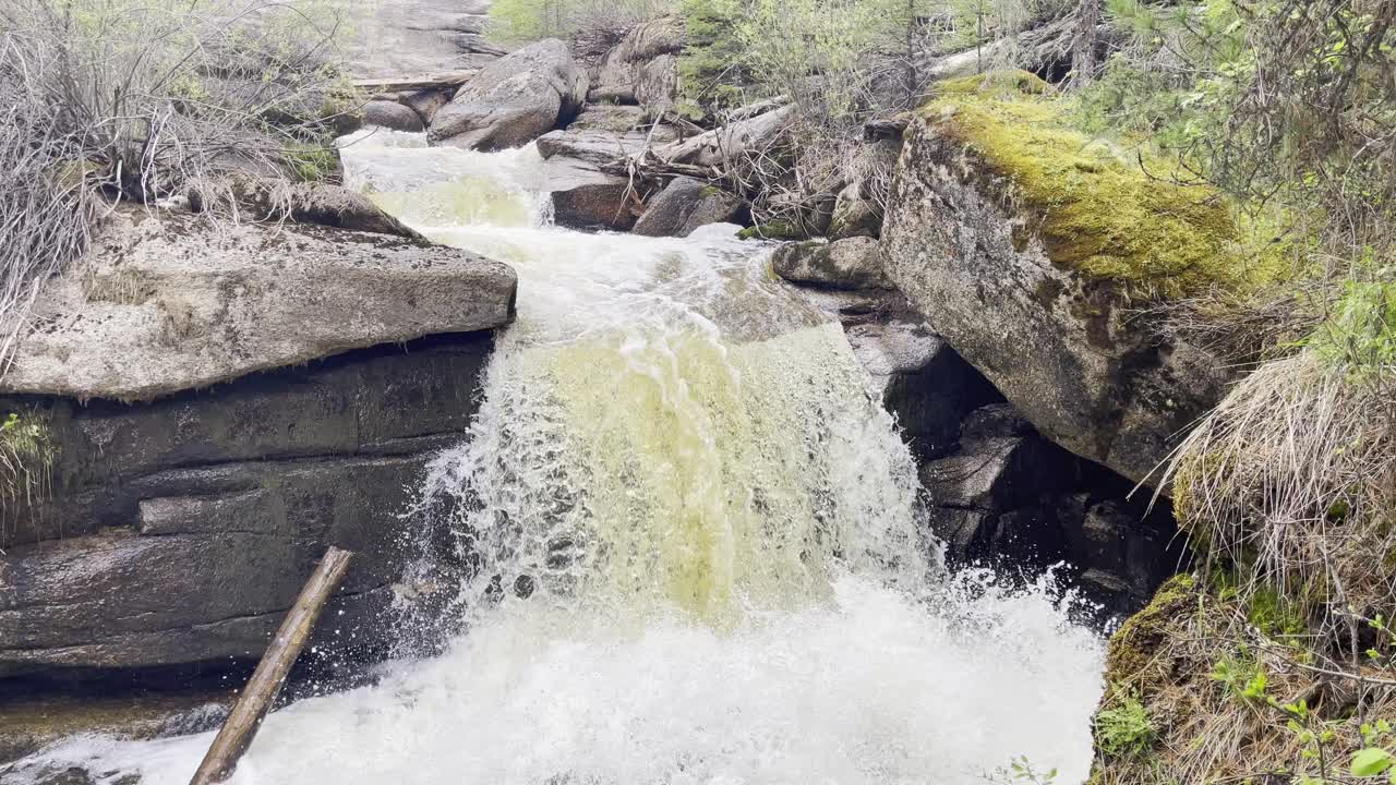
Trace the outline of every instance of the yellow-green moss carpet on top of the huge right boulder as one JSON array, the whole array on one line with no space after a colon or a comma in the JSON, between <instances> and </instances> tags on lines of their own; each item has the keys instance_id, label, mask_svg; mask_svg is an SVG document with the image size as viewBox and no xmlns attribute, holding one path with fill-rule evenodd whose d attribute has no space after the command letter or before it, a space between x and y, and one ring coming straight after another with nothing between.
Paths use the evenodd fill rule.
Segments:
<instances>
[{"instance_id":1,"label":"yellow-green moss carpet on top of the huge right boulder","mask_svg":"<svg viewBox=\"0 0 1396 785\"><path fill-rule=\"evenodd\" d=\"M921 113L979 159L974 170L1027 215L1025 230L1055 264L1164 298L1251 291L1286 268L1269 244L1244 242L1215 191L1175 184L1166 166L1146 170L1141 154L1074 130L1064 101L1039 82L1020 71L955 80Z\"/></svg>"}]
</instances>

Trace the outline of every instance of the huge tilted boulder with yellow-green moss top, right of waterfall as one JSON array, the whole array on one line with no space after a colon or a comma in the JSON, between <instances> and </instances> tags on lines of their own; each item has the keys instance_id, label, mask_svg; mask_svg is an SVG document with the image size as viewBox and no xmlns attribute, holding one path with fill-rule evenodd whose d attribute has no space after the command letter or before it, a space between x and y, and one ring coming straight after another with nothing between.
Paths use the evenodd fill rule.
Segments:
<instances>
[{"instance_id":1,"label":"huge tilted boulder with yellow-green moss top, right of waterfall","mask_svg":"<svg viewBox=\"0 0 1396 785\"><path fill-rule=\"evenodd\" d=\"M1074 131L1030 74L949 82L912 126L888 274L1044 434L1145 479L1228 373L1141 313L1265 275L1227 208Z\"/></svg>"}]
</instances>

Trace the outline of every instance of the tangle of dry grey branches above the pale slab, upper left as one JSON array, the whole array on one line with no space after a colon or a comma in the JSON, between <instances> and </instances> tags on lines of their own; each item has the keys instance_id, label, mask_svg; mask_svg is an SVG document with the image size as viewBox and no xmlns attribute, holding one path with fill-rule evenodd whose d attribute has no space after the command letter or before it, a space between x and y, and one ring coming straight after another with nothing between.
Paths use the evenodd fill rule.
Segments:
<instances>
[{"instance_id":1,"label":"tangle of dry grey branches above the pale slab, upper left","mask_svg":"<svg viewBox=\"0 0 1396 785\"><path fill-rule=\"evenodd\" d=\"M112 200L295 176L357 103L304 1L0 0L0 373Z\"/></svg>"}]
</instances>

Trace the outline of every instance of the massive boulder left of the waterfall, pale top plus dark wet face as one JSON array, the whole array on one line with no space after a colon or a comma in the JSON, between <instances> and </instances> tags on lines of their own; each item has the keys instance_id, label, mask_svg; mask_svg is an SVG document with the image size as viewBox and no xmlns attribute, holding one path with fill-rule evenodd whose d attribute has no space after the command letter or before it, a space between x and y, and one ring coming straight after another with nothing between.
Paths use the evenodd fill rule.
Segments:
<instances>
[{"instance_id":1,"label":"massive boulder left of the waterfall, pale top plus dark wet face","mask_svg":"<svg viewBox=\"0 0 1396 785\"><path fill-rule=\"evenodd\" d=\"M22 487L0 478L0 682L253 662L331 545L356 557L311 659L384 654L434 552L403 513L514 292L417 239L117 211L0 377L28 434Z\"/></svg>"}]
</instances>

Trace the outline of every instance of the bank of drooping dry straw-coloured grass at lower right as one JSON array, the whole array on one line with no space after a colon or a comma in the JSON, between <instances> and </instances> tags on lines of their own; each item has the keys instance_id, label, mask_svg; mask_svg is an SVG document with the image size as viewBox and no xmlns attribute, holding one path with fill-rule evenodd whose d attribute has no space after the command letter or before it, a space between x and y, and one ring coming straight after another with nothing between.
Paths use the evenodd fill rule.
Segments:
<instances>
[{"instance_id":1,"label":"bank of drooping dry straw-coloured grass at lower right","mask_svg":"<svg viewBox=\"0 0 1396 785\"><path fill-rule=\"evenodd\" d=\"M1104 707L1139 694L1157 740L1096 782L1356 782L1396 719L1396 379L1335 316L1268 362L1167 468L1201 580L1111 641ZM1383 355L1376 355L1378 358ZM1282 777L1283 772L1283 777ZM1276 778L1277 777L1277 778Z\"/></svg>"}]
</instances>

